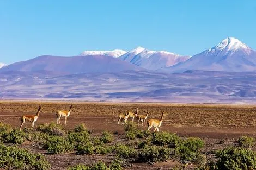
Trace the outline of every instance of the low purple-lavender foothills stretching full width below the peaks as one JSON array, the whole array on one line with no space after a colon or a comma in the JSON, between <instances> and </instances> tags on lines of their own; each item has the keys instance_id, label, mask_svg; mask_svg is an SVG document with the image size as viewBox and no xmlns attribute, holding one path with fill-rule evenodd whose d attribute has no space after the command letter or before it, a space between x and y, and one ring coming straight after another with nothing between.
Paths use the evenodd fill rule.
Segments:
<instances>
[{"instance_id":1,"label":"low purple-lavender foothills stretching full width below the peaks","mask_svg":"<svg viewBox=\"0 0 256 170\"><path fill-rule=\"evenodd\" d=\"M256 72L0 72L0 99L256 103Z\"/></svg>"}]
</instances>

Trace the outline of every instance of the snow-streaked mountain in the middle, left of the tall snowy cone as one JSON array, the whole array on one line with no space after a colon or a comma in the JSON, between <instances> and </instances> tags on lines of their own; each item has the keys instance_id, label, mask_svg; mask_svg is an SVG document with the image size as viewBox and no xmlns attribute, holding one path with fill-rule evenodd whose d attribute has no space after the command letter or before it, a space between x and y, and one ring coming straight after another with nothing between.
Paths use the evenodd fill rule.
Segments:
<instances>
[{"instance_id":1,"label":"snow-streaked mountain in the middle, left of the tall snowy cone","mask_svg":"<svg viewBox=\"0 0 256 170\"><path fill-rule=\"evenodd\" d=\"M157 70L184 62L189 56L180 56L167 51L150 51L143 47L137 47L119 56L119 59L130 62L148 70Z\"/></svg>"}]
</instances>

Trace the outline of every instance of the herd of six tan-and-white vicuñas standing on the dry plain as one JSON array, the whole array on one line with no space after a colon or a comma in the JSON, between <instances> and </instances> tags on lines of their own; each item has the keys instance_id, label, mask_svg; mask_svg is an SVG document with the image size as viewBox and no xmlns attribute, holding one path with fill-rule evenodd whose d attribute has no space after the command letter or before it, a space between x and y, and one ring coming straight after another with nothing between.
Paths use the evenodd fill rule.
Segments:
<instances>
[{"instance_id":1,"label":"herd of six tan-and-white vicu\u00f1as standing on the dry plain","mask_svg":"<svg viewBox=\"0 0 256 170\"><path fill-rule=\"evenodd\" d=\"M63 116L65 117L65 124L66 124L66 120L70 115L71 109L72 109L73 105L70 105L69 110L58 110L56 112L56 123L60 124L60 118ZM20 130L22 125L25 123L25 121L31 122L32 123L32 129L34 129L34 123L37 121L39 113L41 111L41 106L39 106L38 111L36 112L35 115L23 115L20 117L21 119L21 125L20 125ZM141 122L141 125L144 125L146 122L146 119L148 118L149 112L147 111L146 115L138 115L138 108L136 110L136 112L133 111L127 111L125 115L120 114L119 115L119 121L118 124L126 124L127 123L127 119L129 117L132 118L132 123L134 122L134 119L136 118L138 120L138 125L139 122ZM148 130L152 127L155 127L154 131L159 131L159 127L161 127L162 121L163 121L163 116L166 116L166 114L164 114L164 112L162 112L162 116L160 119L148 119L147 120L147 125L148 125Z\"/></svg>"}]
</instances>

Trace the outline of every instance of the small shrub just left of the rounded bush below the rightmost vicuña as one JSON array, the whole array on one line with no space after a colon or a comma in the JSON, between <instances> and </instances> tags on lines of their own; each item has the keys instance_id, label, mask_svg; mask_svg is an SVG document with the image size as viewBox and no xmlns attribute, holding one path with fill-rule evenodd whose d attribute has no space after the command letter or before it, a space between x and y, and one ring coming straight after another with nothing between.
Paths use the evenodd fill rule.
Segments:
<instances>
[{"instance_id":1,"label":"small shrub just left of the rounded bush below the rightmost vicu\u00f1a","mask_svg":"<svg viewBox=\"0 0 256 170\"><path fill-rule=\"evenodd\" d=\"M124 144L115 144L113 146L113 152L117 154L119 158L124 158L124 159L136 159L137 157L137 152L135 148L128 147Z\"/></svg>"}]
</instances>

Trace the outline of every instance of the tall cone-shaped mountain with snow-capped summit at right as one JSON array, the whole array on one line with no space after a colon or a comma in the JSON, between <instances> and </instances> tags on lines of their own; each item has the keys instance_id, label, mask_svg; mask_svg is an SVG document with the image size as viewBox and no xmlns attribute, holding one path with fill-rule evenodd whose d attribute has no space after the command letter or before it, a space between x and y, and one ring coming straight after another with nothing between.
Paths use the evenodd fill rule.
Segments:
<instances>
[{"instance_id":1,"label":"tall cone-shaped mountain with snow-capped summit at right","mask_svg":"<svg viewBox=\"0 0 256 170\"><path fill-rule=\"evenodd\" d=\"M256 51L234 37L192 56L185 62L162 69L170 73L186 70L245 72L256 70Z\"/></svg>"}]
</instances>

